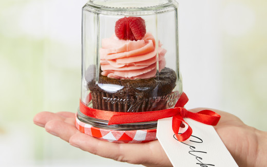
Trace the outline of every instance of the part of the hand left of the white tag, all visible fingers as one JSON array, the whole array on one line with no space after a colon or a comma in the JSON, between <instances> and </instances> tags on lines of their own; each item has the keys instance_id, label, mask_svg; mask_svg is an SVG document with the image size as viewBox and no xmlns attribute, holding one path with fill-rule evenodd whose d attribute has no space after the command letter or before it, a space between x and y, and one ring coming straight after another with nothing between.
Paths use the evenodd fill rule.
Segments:
<instances>
[{"instance_id":1,"label":"part of the hand left of the white tag, all visible fingers","mask_svg":"<svg viewBox=\"0 0 267 167\"><path fill-rule=\"evenodd\" d=\"M112 143L81 133L75 127L75 114L41 112L33 119L54 136L86 152L105 158L146 166L171 166L158 140L147 143Z\"/></svg>"}]
</instances>

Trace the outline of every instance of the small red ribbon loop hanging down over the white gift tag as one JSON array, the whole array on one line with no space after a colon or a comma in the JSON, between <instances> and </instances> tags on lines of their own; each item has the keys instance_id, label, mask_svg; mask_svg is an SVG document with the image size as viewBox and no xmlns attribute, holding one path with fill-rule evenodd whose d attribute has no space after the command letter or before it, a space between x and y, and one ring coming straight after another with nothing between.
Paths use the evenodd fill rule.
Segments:
<instances>
[{"instance_id":1,"label":"small red ribbon loop hanging down over the white gift tag","mask_svg":"<svg viewBox=\"0 0 267 167\"><path fill-rule=\"evenodd\" d=\"M180 142L187 140L193 133L192 128L188 125L186 131L182 134L179 134L179 128L180 128L180 125L182 122L184 122L188 125L188 123L185 122L181 116L174 116L173 117L173 131L175 133L177 140Z\"/></svg>"}]
</instances>

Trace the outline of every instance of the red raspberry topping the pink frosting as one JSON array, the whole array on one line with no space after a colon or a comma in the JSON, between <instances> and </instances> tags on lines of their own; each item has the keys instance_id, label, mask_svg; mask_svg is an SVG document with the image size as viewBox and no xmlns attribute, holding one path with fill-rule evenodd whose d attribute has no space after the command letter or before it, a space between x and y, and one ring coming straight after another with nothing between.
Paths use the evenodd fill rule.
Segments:
<instances>
[{"instance_id":1,"label":"red raspberry topping the pink frosting","mask_svg":"<svg viewBox=\"0 0 267 167\"><path fill-rule=\"evenodd\" d=\"M123 17L115 25L115 34L120 40L141 40L145 33L145 21L141 17Z\"/></svg>"}]
</instances>

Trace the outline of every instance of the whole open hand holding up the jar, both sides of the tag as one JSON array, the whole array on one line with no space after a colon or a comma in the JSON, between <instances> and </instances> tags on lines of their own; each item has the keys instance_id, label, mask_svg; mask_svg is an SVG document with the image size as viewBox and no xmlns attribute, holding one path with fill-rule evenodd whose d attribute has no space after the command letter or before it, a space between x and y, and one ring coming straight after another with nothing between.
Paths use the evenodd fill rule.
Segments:
<instances>
[{"instance_id":1,"label":"whole open hand holding up the jar, both sides of the tag","mask_svg":"<svg viewBox=\"0 0 267 167\"><path fill-rule=\"evenodd\" d=\"M207 108L195 108L190 112L203 109ZM267 165L264 158L267 155L266 132L245 125L232 114L211 110L221 115L215 129L239 166ZM172 166L158 140L136 144L102 141L81 133L75 127L74 113L42 112L35 115L33 122L45 127L48 133L92 154L145 166Z\"/></svg>"}]
</instances>

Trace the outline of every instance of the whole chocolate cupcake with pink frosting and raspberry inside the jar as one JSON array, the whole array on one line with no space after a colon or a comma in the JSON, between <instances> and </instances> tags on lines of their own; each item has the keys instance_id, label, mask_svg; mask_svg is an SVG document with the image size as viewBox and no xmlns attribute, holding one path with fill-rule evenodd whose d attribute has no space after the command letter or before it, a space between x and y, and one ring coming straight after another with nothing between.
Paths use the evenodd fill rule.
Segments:
<instances>
[{"instance_id":1,"label":"whole chocolate cupcake with pink frosting and raspberry inside the jar","mask_svg":"<svg viewBox=\"0 0 267 167\"><path fill-rule=\"evenodd\" d=\"M99 73L86 70L93 76L86 78L92 108L134 113L173 107L177 74L166 67L162 46L146 32L143 18L120 18L115 34L102 39Z\"/></svg>"}]
</instances>

